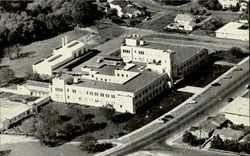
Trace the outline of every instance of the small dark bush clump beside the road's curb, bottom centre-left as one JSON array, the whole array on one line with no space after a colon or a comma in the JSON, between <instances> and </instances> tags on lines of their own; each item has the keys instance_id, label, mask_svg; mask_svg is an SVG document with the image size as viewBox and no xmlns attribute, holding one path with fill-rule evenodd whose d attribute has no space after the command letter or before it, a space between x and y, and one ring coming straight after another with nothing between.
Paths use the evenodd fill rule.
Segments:
<instances>
[{"instance_id":1,"label":"small dark bush clump beside the road's curb, bottom centre-left","mask_svg":"<svg viewBox=\"0 0 250 156\"><path fill-rule=\"evenodd\" d=\"M89 153L102 152L113 147L111 143L98 143L95 137L88 134L81 136L80 141L80 148Z\"/></svg>"}]
</instances>

